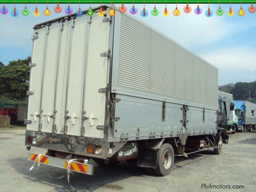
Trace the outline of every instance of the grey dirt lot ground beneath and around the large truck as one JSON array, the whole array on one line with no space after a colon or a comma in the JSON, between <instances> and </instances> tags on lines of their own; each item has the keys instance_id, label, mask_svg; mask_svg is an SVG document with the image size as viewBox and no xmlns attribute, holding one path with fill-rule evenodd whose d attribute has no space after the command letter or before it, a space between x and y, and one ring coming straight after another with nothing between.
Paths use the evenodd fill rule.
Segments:
<instances>
[{"instance_id":1,"label":"grey dirt lot ground beneath and around the large truck","mask_svg":"<svg viewBox=\"0 0 256 192\"><path fill-rule=\"evenodd\" d=\"M69 191L67 177L51 179L66 173L65 170L46 165L29 168L24 145L25 130L0 130L0 191L55 192L54 188ZM44 149L31 148L42 153ZM121 162L116 167L95 165L94 175L76 173L70 182L79 190L91 191L255 191L256 189L256 132L230 134L229 144L224 145L221 155L213 151L191 154L188 160L175 159L171 175L158 177L149 170ZM244 189L205 189L205 185L243 185ZM223 188L223 187L222 187ZM62 190L63 191L63 190Z\"/></svg>"}]
</instances>

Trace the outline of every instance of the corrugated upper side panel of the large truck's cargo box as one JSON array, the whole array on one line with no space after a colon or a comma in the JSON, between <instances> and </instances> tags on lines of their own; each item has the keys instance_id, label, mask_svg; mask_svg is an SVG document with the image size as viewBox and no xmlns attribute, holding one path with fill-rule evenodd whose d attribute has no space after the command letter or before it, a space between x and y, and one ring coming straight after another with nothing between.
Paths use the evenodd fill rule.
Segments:
<instances>
[{"instance_id":1,"label":"corrugated upper side panel of the large truck's cargo box","mask_svg":"<svg viewBox=\"0 0 256 192\"><path fill-rule=\"evenodd\" d=\"M142 91L145 96L158 95L218 109L218 70L124 14L120 21L117 84L113 86L116 93L123 89L129 93Z\"/></svg>"}]
</instances>

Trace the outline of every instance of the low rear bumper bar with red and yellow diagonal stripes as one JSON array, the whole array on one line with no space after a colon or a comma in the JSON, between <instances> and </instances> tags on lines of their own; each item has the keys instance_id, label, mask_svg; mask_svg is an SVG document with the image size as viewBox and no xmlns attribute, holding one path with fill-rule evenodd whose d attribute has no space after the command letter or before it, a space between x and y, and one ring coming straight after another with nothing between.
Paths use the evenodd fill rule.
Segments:
<instances>
[{"instance_id":1,"label":"low rear bumper bar with red and yellow diagonal stripes","mask_svg":"<svg viewBox=\"0 0 256 192\"><path fill-rule=\"evenodd\" d=\"M27 160L35 161L39 154L28 153ZM37 159L38 162L38 159ZM40 156L40 164L50 165L61 169L67 169L68 160L51 157L48 155ZM93 165L84 164L78 161L72 161L70 170L75 172L84 173L87 175L93 175Z\"/></svg>"}]
</instances>

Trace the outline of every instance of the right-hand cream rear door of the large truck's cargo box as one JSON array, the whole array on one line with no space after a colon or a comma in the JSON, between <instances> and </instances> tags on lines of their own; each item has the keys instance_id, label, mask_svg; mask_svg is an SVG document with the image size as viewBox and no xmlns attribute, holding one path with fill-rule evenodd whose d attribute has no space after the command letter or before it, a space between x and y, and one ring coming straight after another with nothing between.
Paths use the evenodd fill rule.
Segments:
<instances>
[{"instance_id":1,"label":"right-hand cream rear door of the large truck's cargo box","mask_svg":"<svg viewBox=\"0 0 256 192\"><path fill-rule=\"evenodd\" d=\"M75 19L73 28L72 21L69 25L68 39L71 38L67 47L71 46L71 49L66 52L63 130L67 135L103 138L104 131L97 126L104 125L106 94L98 90L105 88L107 81L108 57L101 57L101 53L108 50L109 23L104 23L102 17L93 16L88 20L85 16ZM86 67L85 76L83 67Z\"/></svg>"}]
</instances>

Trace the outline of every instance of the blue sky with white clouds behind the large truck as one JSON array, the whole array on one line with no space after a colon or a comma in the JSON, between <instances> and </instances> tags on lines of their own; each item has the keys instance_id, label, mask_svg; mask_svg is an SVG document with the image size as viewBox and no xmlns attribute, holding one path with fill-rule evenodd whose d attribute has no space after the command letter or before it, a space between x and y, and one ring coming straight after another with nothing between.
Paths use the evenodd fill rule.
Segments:
<instances>
[{"instance_id":1,"label":"blue sky with white clouds behind the large truck","mask_svg":"<svg viewBox=\"0 0 256 192\"><path fill-rule=\"evenodd\" d=\"M132 4L125 5L128 9L132 6ZM222 16L217 16L215 13L219 5L210 4L210 8L214 11L212 17L206 17L204 14L208 8L206 4L200 4L203 9L200 15L194 13L197 4L190 4L192 11L188 14L183 12L184 5L178 4L178 9L182 11L178 17L172 14L164 17L162 15L164 4L156 4L156 8L160 10L158 16L150 14L153 4L145 5L149 10L147 17L141 17L139 12L135 16L215 65L219 69L219 85L256 81L256 13L248 12L250 4L243 4L243 9L246 11L243 17L237 15L240 4L231 5L235 13L233 17L226 15L229 4L221 5L222 10L225 11ZM48 4L51 15L46 17L42 14L46 5L38 4L41 15L34 17L32 11L35 9L35 4L27 4L27 9L31 13L25 17L21 14L24 4L16 4L20 15L14 18L10 14L14 5L5 4L5 6L9 9L9 13L0 15L0 61L4 64L31 55L34 25L65 15L63 10L59 14L53 11L55 4ZM60 6L62 9L67 7L66 4ZM78 9L78 4L70 4L70 6L74 11ZM92 4L93 6L97 4ZM143 8L143 4L135 6L139 11ZM82 10L88 7L89 4L81 4ZM172 12L174 9L175 4L167 4L168 11Z\"/></svg>"}]
</instances>

